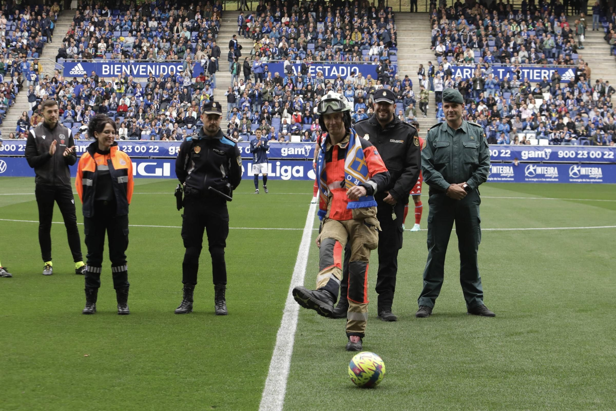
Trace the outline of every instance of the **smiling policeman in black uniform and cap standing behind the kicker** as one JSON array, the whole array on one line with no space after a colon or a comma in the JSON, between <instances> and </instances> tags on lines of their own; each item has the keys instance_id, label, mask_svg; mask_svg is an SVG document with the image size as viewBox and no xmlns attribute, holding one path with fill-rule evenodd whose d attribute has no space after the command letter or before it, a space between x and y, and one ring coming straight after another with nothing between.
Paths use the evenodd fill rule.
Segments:
<instances>
[{"instance_id":1,"label":"smiling policeman in black uniform and cap standing behind the kicker","mask_svg":"<svg viewBox=\"0 0 616 411\"><path fill-rule=\"evenodd\" d=\"M375 114L372 117L355 123L354 128L357 135L375 146L389 170L389 184L383 193L375 194L376 217L381 223L376 293L378 318L383 321L396 321L397 317L392 313L391 307L398 272L398 251L402 248L404 206L408 203L408 193L419 177L421 157L416 128L400 121L394 115L395 95L391 90L379 89L376 92L374 109ZM347 273L345 268L342 295L346 295L348 288ZM340 299L334 310L336 318L346 317L347 307L347 300Z\"/></svg>"}]
</instances>

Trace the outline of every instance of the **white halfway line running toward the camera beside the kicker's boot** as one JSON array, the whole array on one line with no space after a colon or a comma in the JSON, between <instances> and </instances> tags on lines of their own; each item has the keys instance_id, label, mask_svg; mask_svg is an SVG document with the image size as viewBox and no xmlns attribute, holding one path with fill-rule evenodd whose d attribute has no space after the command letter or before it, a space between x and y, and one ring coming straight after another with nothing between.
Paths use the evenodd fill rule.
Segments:
<instances>
[{"instance_id":1,"label":"white halfway line running toward the camera beside the kicker's boot","mask_svg":"<svg viewBox=\"0 0 616 411\"><path fill-rule=\"evenodd\" d=\"M304 284L315 210L317 210L317 204L310 204L306 216L306 225L304 225L304 232L302 233L302 241L299 243L298 259L295 262L289 292L286 296L285 310L276 335L276 346L265 380L259 411L280 411L285 404L286 380L291 367L291 355L293 354L293 342L295 330L298 326L299 312L299 305L294 301L292 291L294 287Z\"/></svg>"}]
</instances>

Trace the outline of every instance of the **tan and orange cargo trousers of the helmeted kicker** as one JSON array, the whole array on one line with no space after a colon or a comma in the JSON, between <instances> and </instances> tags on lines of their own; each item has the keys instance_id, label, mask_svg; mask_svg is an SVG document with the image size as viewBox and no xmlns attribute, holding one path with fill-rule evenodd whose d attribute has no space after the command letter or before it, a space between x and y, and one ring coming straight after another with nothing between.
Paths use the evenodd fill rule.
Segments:
<instances>
[{"instance_id":1,"label":"tan and orange cargo trousers of the helmeted kicker","mask_svg":"<svg viewBox=\"0 0 616 411\"><path fill-rule=\"evenodd\" d=\"M363 338L368 321L368 261L370 251L378 246L380 225L376 218L323 220L319 249L317 289L325 288L338 296L342 280L342 250L349 244L349 279L346 296L349 301L346 334Z\"/></svg>"}]
</instances>

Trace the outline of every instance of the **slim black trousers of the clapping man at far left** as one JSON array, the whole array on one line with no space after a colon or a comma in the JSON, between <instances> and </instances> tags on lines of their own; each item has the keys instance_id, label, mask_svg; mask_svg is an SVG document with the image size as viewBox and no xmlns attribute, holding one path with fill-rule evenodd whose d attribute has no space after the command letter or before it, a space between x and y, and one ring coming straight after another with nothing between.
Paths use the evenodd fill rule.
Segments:
<instances>
[{"instance_id":1,"label":"slim black trousers of the clapping man at far left","mask_svg":"<svg viewBox=\"0 0 616 411\"><path fill-rule=\"evenodd\" d=\"M68 246L75 262L83 260L81 239L75 215L75 197L70 185L48 186L37 184L34 189L39 209L39 244L43 261L51 261L51 220L54 217L54 203L58 203L64 226L67 228Z\"/></svg>"}]
</instances>

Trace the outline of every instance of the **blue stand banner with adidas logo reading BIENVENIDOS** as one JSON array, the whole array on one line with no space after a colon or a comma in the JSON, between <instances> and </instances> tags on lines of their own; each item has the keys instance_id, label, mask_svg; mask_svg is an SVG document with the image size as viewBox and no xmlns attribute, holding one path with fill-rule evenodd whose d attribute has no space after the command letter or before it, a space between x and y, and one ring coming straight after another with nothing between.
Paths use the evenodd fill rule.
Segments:
<instances>
[{"instance_id":1,"label":"blue stand banner with adidas logo reading BIENVENIDOS","mask_svg":"<svg viewBox=\"0 0 616 411\"><path fill-rule=\"evenodd\" d=\"M182 62L173 63L150 63L150 62L64 62L63 75L67 78L81 78L84 74L88 77L95 72L100 77L117 77L120 73L132 75L132 77L154 77L163 75L175 75L182 68ZM193 77L197 77L198 73L193 73Z\"/></svg>"}]
</instances>

